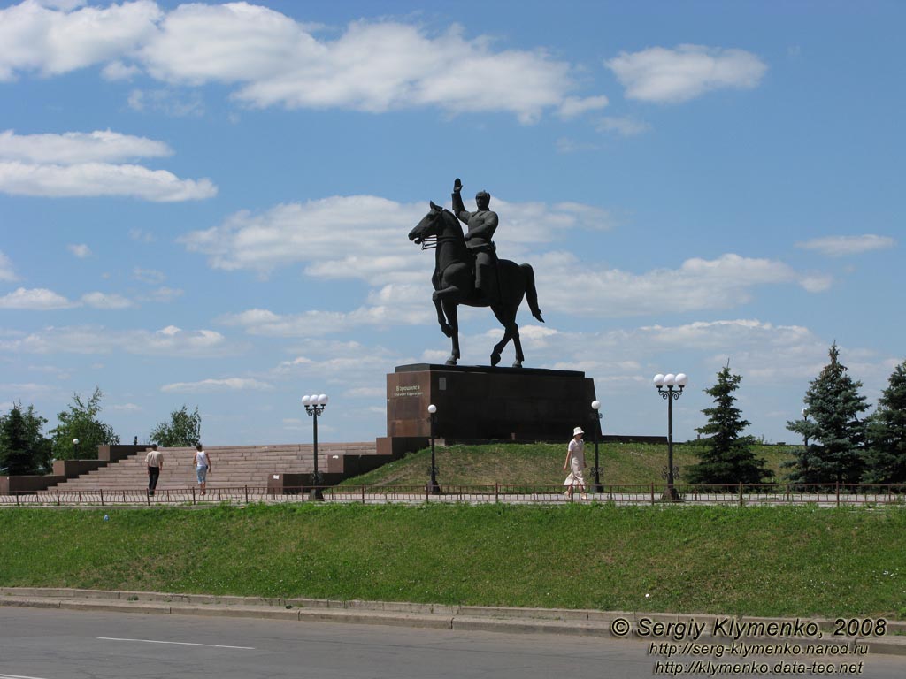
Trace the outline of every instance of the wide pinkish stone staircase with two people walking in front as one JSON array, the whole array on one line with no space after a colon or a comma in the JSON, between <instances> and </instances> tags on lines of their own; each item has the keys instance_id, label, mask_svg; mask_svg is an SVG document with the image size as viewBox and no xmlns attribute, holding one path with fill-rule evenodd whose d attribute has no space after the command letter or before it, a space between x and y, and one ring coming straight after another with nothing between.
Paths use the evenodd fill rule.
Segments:
<instances>
[{"instance_id":1,"label":"wide pinkish stone staircase with two people walking in front","mask_svg":"<svg viewBox=\"0 0 906 679\"><path fill-rule=\"evenodd\" d=\"M164 468L160 473L158 490L190 488L197 485L192 459L195 448L161 448L164 454ZM211 458L212 471L207 475L207 487L234 488L267 486L275 473L313 472L312 445L225 445L206 447ZM318 444L318 470L322 473L342 473L343 458L350 456L371 456L377 454L377 446L371 443L328 443ZM380 455L389 461L389 456ZM378 466L377 458L369 466ZM348 466L348 465L347 465ZM103 489L127 490L148 487L148 469L145 453L130 455L119 462L110 464L74 479L58 483L54 488L60 492L92 492Z\"/></svg>"}]
</instances>

